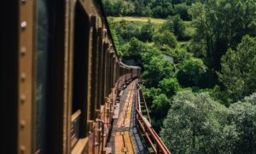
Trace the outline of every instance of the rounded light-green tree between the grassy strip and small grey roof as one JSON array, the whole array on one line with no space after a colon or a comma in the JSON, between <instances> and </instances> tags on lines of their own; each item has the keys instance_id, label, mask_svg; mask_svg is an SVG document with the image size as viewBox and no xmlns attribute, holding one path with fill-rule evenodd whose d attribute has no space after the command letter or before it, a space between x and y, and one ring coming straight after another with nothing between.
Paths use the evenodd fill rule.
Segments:
<instances>
[{"instance_id":1,"label":"rounded light-green tree between the grassy strip and small grey roof","mask_svg":"<svg viewBox=\"0 0 256 154\"><path fill-rule=\"evenodd\" d=\"M166 45L170 48L174 48L177 45L177 38L170 31L163 31L154 34L153 40L154 43L159 47Z\"/></svg>"}]
</instances>

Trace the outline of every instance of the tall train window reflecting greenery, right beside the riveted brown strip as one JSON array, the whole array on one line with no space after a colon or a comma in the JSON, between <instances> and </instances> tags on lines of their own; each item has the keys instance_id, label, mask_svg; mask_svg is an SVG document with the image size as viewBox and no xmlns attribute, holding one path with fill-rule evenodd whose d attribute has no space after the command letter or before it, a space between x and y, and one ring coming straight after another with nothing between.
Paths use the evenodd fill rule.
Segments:
<instances>
[{"instance_id":1,"label":"tall train window reflecting greenery, right beside the riveted brown strip","mask_svg":"<svg viewBox=\"0 0 256 154\"><path fill-rule=\"evenodd\" d=\"M48 15L46 0L37 4L37 48L36 48L36 150L45 153L46 136L46 88L48 57Z\"/></svg>"}]
</instances>

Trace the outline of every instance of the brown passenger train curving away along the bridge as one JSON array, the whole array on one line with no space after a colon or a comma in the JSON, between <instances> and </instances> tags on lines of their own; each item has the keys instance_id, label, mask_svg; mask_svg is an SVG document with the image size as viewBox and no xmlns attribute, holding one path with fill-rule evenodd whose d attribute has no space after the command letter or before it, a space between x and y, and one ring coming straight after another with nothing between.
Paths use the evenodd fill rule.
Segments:
<instances>
[{"instance_id":1,"label":"brown passenger train curving away along the bridge","mask_svg":"<svg viewBox=\"0 0 256 154\"><path fill-rule=\"evenodd\" d=\"M0 153L104 153L124 65L100 0L3 1Z\"/></svg>"}]
</instances>

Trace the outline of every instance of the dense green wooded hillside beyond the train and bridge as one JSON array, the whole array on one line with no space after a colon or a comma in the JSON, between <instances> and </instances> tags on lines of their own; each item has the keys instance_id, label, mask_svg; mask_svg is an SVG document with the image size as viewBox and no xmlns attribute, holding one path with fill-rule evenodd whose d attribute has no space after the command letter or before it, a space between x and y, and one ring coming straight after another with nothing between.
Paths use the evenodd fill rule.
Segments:
<instances>
[{"instance_id":1,"label":"dense green wooded hillside beyond the train and bridge","mask_svg":"<svg viewBox=\"0 0 256 154\"><path fill-rule=\"evenodd\" d=\"M172 153L256 153L255 0L103 4L118 53L143 67L153 127Z\"/></svg>"}]
</instances>

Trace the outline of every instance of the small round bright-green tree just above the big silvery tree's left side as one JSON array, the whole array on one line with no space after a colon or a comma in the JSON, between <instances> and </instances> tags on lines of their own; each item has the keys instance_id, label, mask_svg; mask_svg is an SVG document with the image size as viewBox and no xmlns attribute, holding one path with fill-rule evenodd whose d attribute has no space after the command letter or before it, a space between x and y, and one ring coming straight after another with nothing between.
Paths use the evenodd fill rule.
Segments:
<instances>
[{"instance_id":1,"label":"small round bright-green tree just above the big silvery tree's left side","mask_svg":"<svg viewBox=\"0 0 256 154\"><path fill-rule=\"evenodd\" d=\"M162 81L160 81L159 88L169 98L172 97L172 95L177 93L177 90L179 88L179 84L177 82L177 78L175 78L175 77L164 78Z\"/></svg>"}]
</instances>

